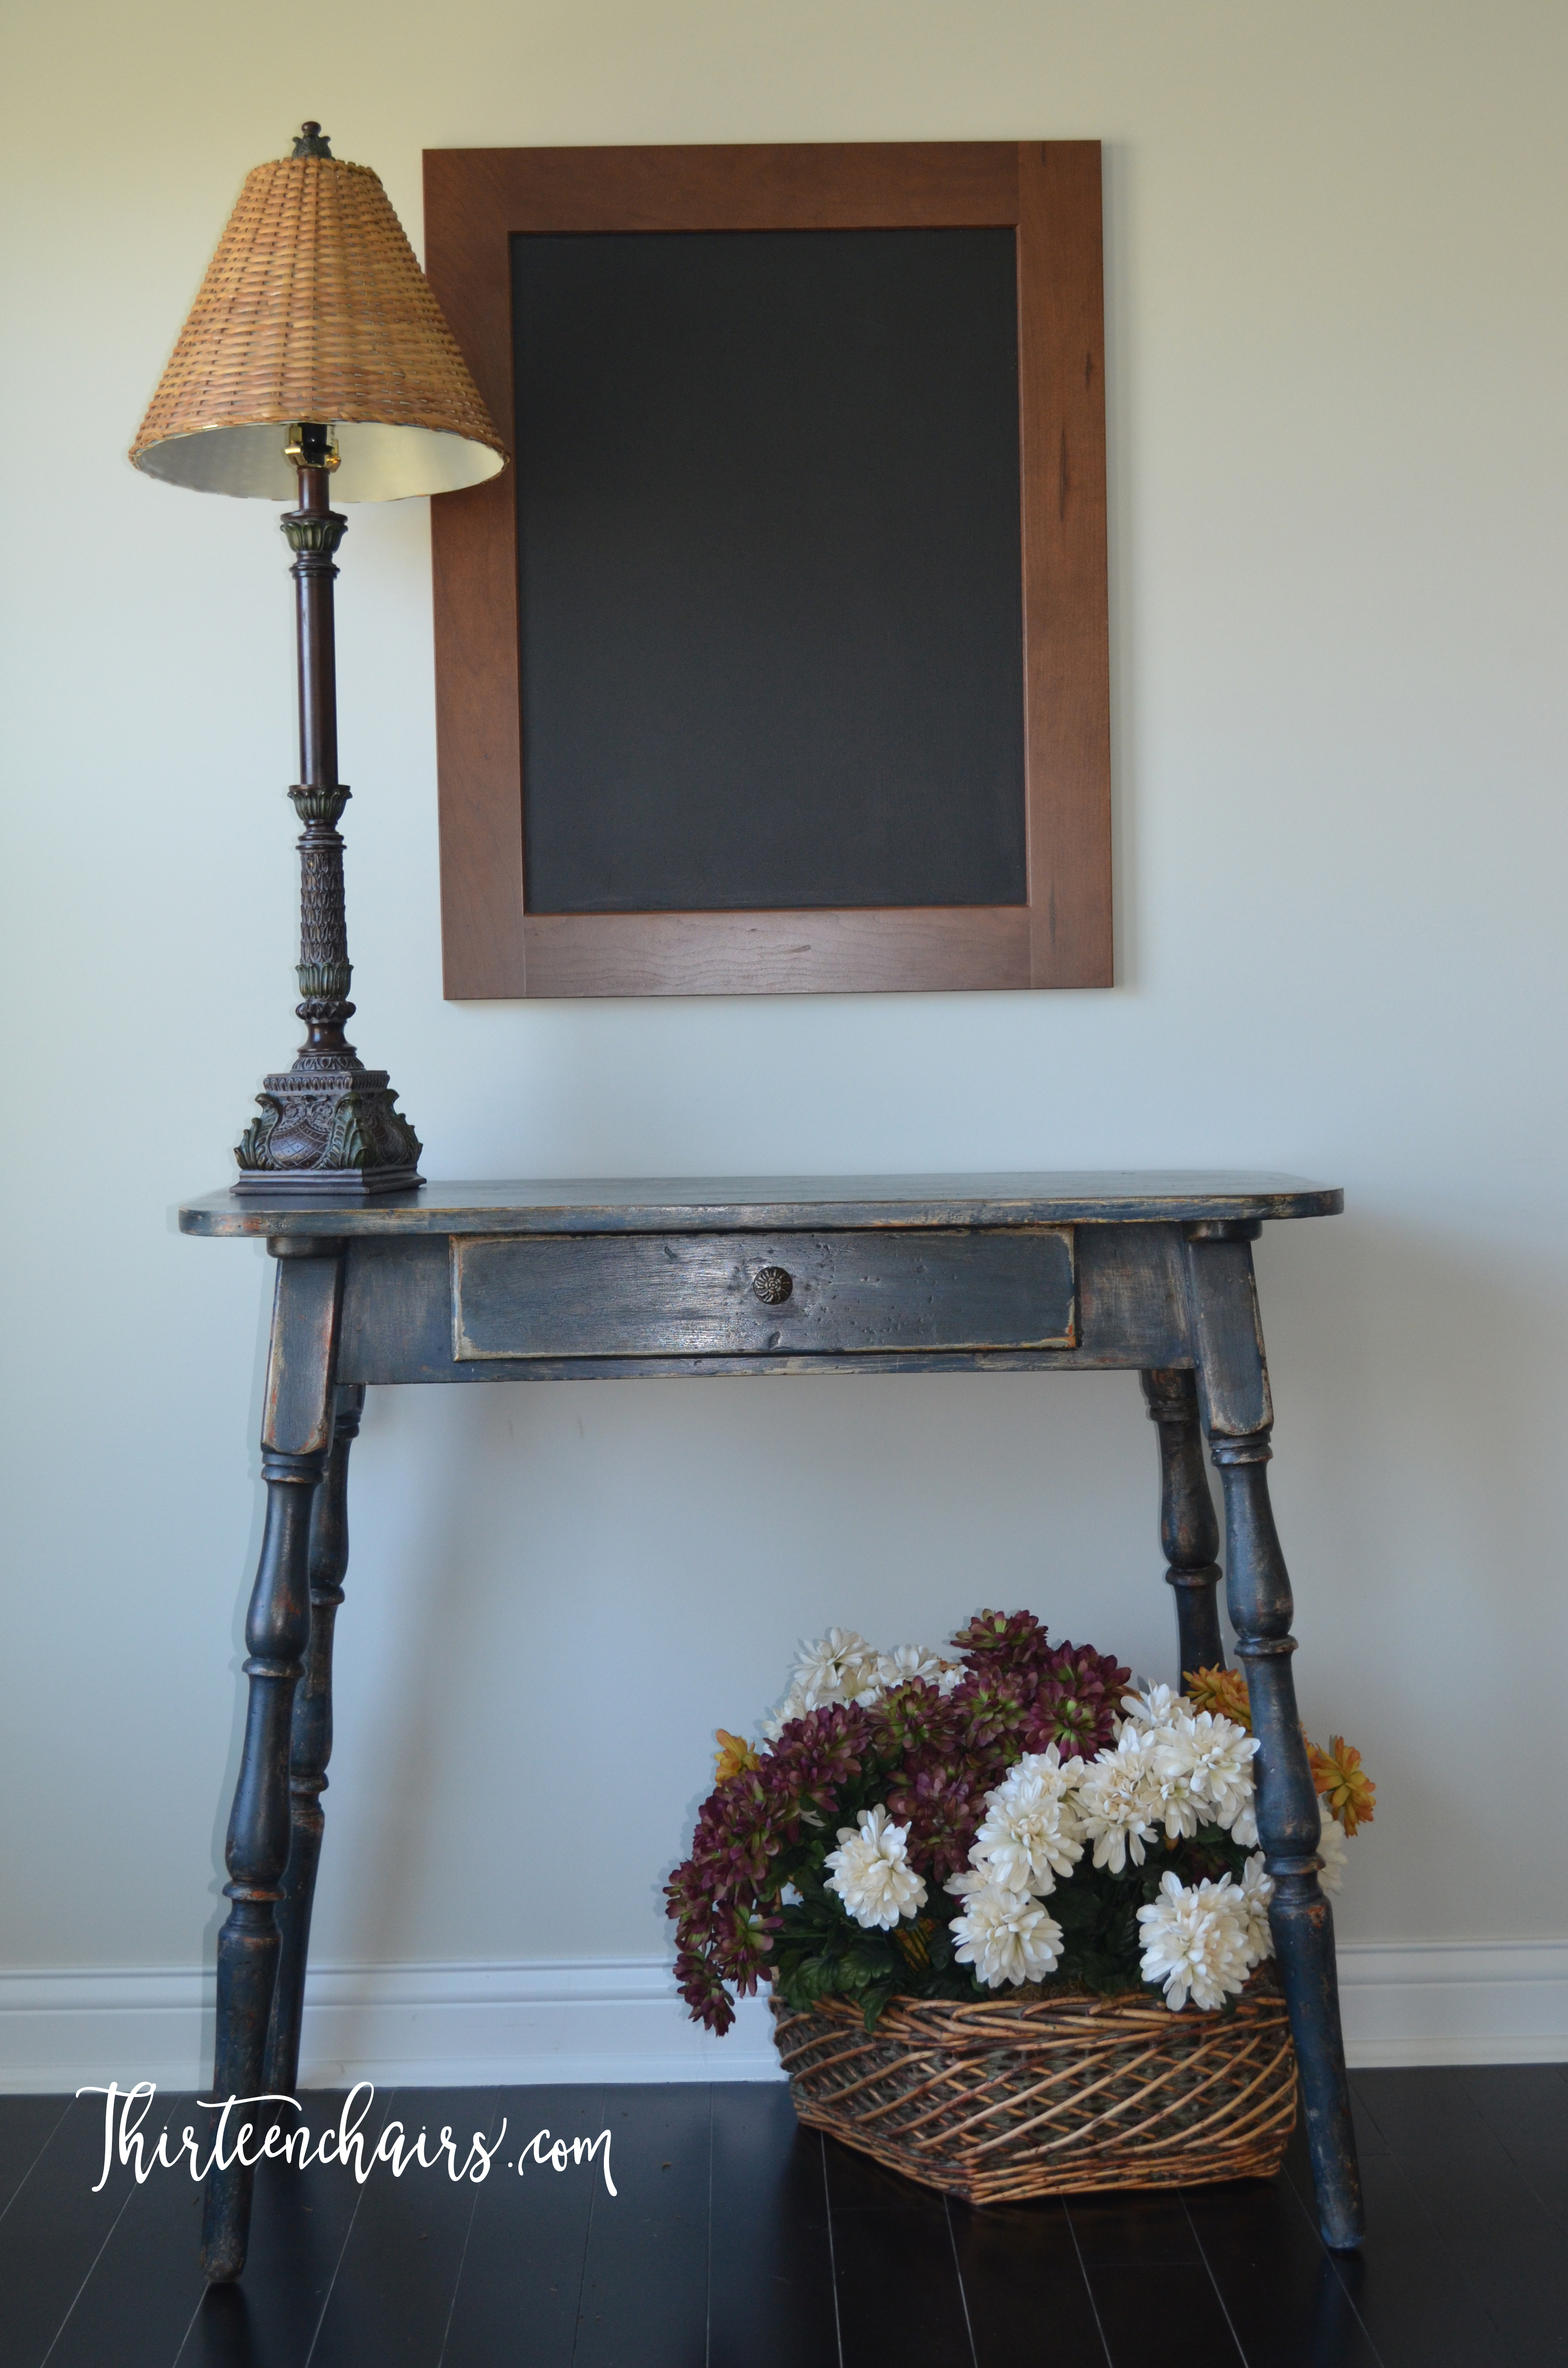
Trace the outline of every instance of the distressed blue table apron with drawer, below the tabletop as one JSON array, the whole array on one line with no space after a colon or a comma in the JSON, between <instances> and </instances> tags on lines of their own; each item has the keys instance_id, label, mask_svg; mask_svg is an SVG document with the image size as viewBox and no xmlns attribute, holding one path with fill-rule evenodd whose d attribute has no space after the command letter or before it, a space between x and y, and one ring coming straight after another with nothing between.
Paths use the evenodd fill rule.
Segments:
<instances>
[{"instance_id":1,"label":"distressed blue table apron with drawer, below the tabletop","mask_svg":"<svg viewBox=\"0 0 1568 2368\"><path fill-rule=\"evenodd\" d=\"M782 1288L770 1305L756 1293ZM1189 1366L1177 1224L405 1236L346 1250L339 1378Z\"/></svg>"}]
</instances>

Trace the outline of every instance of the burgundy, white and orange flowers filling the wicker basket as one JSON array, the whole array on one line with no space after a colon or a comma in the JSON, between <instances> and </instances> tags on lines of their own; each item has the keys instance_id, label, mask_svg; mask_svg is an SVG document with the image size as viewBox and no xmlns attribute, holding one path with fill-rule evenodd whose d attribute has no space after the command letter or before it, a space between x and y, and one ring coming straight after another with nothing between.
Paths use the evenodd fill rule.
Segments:
<instances>
[{"instance_id":1,"label":"burgundy, white and orange flowers filling the wicker basket","mask_svg":"<svg viewBox=\"0 0 1568 2368\"><path fill-rule=\"evenodd\" d=\"M1215 2013L1272 1956L1246 1679L1130 1684L1033 1613L978 1613L957 1658L803 1648L760 1748L718 1731L718 1785L666 1885L692 2018L734 2022L770 1980L841 1996L874 2032L891 1999L978 2001L1023 1984L1158 1989ZM1360 1752L1307 1743L1322 1883L1371 1821Z\"/></svg>"}]
</instances>

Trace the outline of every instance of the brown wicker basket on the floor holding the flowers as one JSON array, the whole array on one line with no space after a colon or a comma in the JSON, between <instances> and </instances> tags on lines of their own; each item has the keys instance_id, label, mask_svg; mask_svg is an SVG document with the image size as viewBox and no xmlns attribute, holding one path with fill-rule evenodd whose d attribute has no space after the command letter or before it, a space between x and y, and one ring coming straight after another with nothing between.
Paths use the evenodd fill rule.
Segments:
<instances>
[{"instance_id":1,"label":"brown wicker basket on the floor holding the flowers","mask_svg":"<svg viewBox=\"0 0 1568 2368\"><path fill-rule=\"evenodd\" d=\"M898 1999L872 2039L846 1999L772 2013L801 2122L971 2205L1267 2179L1296 2122L1270 1968L1225 2015L1146 1989Z\"/></svg>"}]
</instances>

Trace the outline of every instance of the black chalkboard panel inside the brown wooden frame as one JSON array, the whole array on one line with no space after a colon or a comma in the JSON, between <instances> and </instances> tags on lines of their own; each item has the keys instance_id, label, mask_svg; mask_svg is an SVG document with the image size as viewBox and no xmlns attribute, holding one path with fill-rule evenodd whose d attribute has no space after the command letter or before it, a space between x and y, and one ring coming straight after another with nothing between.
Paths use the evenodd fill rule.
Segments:
<instances>
[{"instance_id":1,"label":"black chalkboard panel inside the brown wooden frame","mask_svg":"<svg viewBox=\"0 0 1568 2368\"><path fill-rule=\"evenodd\" d=\"M1011 227L512 237L528 914L1023 905Z\"/></svg>"}]
</instances>

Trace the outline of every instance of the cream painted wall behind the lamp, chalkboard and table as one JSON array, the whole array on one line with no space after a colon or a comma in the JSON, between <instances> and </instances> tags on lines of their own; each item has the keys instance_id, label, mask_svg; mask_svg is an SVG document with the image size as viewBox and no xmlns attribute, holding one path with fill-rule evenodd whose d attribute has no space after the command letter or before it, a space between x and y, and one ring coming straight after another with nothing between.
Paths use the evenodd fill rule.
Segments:
<instances>
[{"instance_id":1,"label":"cream painted wall behind the lamp, chalkboard and table","mask_svg":"<svg viewBox=\"0 0 1568 2368\"><path fill-rule=\"evenodd\" d=\"M322 64L310 64L310 47ZM358 1040L433 1175L1293 1167L1260 1248L1341 1932L1566 1937L1568 14L1559 0L54 0L7 33L0 1963L194 1965L258 1534L258 1250L182 1241L289 1056L284 552L123 448L242 173L1106 142L1120 985L441 1002L426 509L353 511ZM372 1399L327 1961L647 1958L706 1736L831 1620L1037 1606L1168 1674L1130 1376Z\"/></svg>"}]
</instances>

